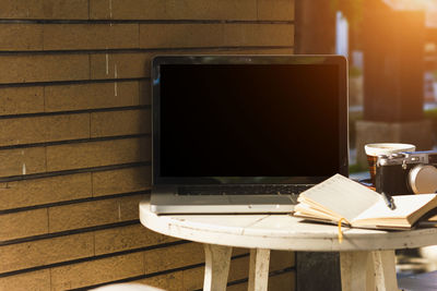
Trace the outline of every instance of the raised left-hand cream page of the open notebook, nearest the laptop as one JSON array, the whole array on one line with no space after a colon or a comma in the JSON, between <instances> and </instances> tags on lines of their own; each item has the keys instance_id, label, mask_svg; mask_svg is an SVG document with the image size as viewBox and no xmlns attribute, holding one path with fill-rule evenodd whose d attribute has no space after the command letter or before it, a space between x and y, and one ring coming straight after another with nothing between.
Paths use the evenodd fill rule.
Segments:
<instances>
[{"instance_id":1,"label":"raised left-hand cream page of the open notebook, nearest the laptop","mask_svg":"<svg viewBox=\"0 0 437 291\"><path fill-rule=\"evenodd\" d=\"M341 174L303 192L299 201L308 201L352 221L380 199L380 194Z\"/></svg>"}]
</instances>

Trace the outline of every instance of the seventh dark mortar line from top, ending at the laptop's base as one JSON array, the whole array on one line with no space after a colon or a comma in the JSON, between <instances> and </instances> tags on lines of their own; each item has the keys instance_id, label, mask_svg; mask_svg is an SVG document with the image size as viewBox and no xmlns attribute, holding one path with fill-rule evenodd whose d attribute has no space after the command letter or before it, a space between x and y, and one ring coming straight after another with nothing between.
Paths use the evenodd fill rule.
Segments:
<instances>
[{"instance_id":1,"label":"seventh dark mortar line from top, ending at the laptop's base","mask_svg":"<svg viewBox=\"0 0 437 291\"><path fill-rule=\"evenodd\" d=\"M71 205L71 204L80 204L80 203L85 203L85 202L107 201L107 199L122 198L122 197L129 197L129 196L135 196L135 195L146 195L150 193L151 193L151 190L147 189L147 190L117 193L117 194L103 195L103 196L91 196L91 197L86 197L86 198L79 198L79 199L72 199L72 201L46 203L46 204L0 210L0 216L22 213L22 211L28 211L28 210L35 210L35 209L42 209L42 208L66 206L66 205ZM0 195L1 195L1 192L0 192ZM46 234L42 234L42 235L46 235ZM2 245L2 243L3 242L0 241L0 245Z\"/></svg>"}]
</instances>

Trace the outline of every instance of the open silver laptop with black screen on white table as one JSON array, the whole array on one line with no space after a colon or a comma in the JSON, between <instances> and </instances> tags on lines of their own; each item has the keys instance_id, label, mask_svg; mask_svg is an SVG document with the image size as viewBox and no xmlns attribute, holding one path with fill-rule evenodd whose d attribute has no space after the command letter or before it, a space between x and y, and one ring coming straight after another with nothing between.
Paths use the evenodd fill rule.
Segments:
<instances>
[{"instance_id":1,"label":"open silver laptop with black screen on white table","mask_svg":"<svg viewBox=\"0 0 437 291\"><path fill-rule=\"evenodd\" d=\"M151 78L156 214L288 213L349 175L341 56L158 56Z\"/></svg>"}]
</instances>

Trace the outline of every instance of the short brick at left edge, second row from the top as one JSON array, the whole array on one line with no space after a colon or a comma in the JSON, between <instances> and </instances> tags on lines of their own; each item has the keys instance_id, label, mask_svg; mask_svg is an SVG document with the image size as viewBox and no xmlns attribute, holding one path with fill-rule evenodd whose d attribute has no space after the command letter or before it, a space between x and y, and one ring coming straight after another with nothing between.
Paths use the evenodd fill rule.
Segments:
<instances>
[{"instance_id":1,"label":"short brick at left edge, second row from the top","mask_svg":"<svg viewBox=\"0 0 437 291\"><path fill-rule=\"evenodd\" d=\"M0 50L42 49L43 25L5 23L0 24Z\"/></svg>"}]
</instances>

